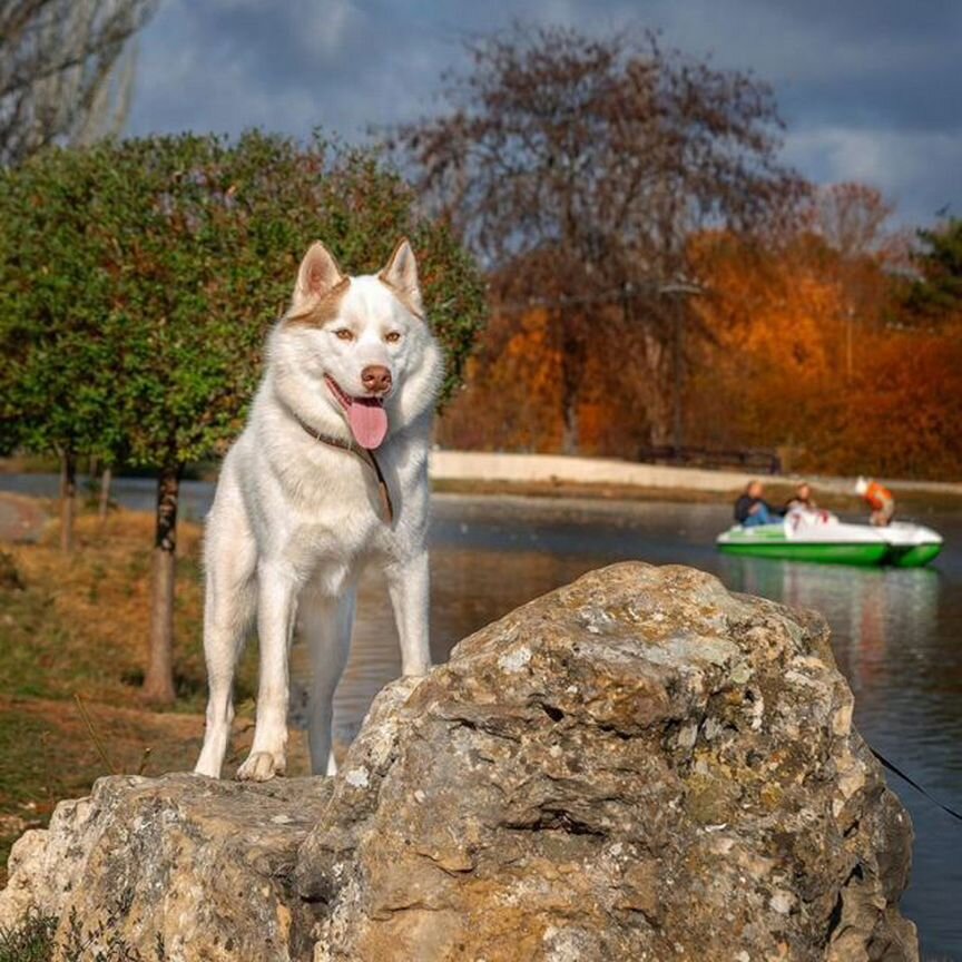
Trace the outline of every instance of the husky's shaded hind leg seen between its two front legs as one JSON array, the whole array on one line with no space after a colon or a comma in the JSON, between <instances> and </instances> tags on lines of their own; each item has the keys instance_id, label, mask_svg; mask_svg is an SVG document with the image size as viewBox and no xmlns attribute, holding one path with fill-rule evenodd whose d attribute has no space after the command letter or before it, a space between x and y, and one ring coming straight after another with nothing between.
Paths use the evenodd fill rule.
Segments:
<instances>
[{"instance_id":1,"label":"husky's shaded hind leg seen between its two front legs","mask_svg":"<svg viewBox=\"0 0 962 962\"><path fill-rule=\"evenodd\" d=\"M334 691L347 655L351 651L351 631L354 627L354 588L341 598L310 595L304 599L302 625L311 652L311 706L307 728L311 745L311 770L315 775L334 775L333 719Z\"/></svg>"}]
</instances>

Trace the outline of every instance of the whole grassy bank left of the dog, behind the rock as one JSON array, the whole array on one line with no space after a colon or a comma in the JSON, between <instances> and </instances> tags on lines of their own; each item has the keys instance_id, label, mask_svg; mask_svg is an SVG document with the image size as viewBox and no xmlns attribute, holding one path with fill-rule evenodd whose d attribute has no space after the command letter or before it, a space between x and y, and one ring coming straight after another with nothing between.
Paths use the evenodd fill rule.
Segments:
<instances>
[{"instance_id":1,"label":"whole grassy bank left of the dog, behind the rock","mask_svg":"<svg viewBox=\"0 0 962 962\"><path fill-rule=\"evenodd\" d=\"M4 547L16 578L0 587L0 884L10 845L46 824L58 801L87 794L101 775L188 769L203 736L199 527L179 527L178 697L169 711L148 709L139 695L153 518L119 511L101 527L81 516L77 533L69 556L53 529L38 544ZM255 683L256 651L248 649L228 766L249 745ZM292 747L292 774L303 773L302 746Z\"/></svg>"}]
</instances>

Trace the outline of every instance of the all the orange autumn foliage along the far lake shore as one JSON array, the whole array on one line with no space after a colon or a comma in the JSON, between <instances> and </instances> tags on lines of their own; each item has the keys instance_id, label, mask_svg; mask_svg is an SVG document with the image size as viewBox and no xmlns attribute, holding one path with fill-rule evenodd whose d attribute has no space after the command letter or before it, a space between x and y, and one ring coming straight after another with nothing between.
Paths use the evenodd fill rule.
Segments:
<instances>
[{"instance_id":1,"label":"all the orange autumn foliage along the far lake shore","mask_svg":"<svg viewBox=\"0 0 962 962\"><path fill-rule=\"evenodd\" d=\"M690 239L704 293L687 302L683 331L683 443L777 450L789 471L958 480L962 316L906 314L905 247L880 234L874 195L851 193L828 198L831 230L807 224L767 246ZM652 323L617 304L586 312L579 453L634 460L670 443L673 342L664 327L651 336ZM565 360L557 316L495 313L438 440L560 452Z\"/></svg>"}]
</instances>

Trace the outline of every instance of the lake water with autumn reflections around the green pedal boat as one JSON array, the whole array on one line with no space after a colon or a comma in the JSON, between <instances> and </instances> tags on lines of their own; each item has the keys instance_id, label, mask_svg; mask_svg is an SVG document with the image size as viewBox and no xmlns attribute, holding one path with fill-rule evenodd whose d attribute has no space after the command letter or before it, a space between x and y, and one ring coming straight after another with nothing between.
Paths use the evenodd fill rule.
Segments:
<instances>
[{"instance_id":1,"label":"lake water with autumn reflections around the green pedal boat","mask_svg":"<svg viewBox=\"0 0 962 962\"><path fill-rule=\"evenodd\" d=\"M56 493L56 479L0 477L0 488ZM150 509L149 481L124 479L115 494ZM188 482L186 514L203 517L212 488ZM915 520L946 548L930 568L858 569L719 554L719 504L612 503L520 498L435 498L432 527L432 654L511 608L592 568L625 559L691 565L729 588L815 608L833 631L838 666L855 693L866 740L944 804L962 811L962 511ZM295 674L306 658L295 647ZM371 699L400 670L383 585L365 577L351 661L336 697L338 736L357 730ZM912 884L903 901L923 955L962 962L962 823L894 775L889 784L915 824Z\"/></svg>"}]
</instances>

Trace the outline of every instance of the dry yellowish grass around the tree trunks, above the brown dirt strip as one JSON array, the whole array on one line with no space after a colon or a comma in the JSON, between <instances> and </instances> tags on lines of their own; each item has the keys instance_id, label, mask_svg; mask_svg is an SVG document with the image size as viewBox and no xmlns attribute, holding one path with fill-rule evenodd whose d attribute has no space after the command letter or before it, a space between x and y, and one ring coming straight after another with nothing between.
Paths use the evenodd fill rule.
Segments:
<instances>
[{"instance_id":1,"label":"dry yellowish grass around the tree trunks, above the brown dirt strip","mask_svg":"<svg viewBox=\"0 0 962 962\"><path fill-rule=\"evenodd\" d=\"M101 528L81 517L69 556L52 536L10 549L26 590L3 598L0 646L11 670L0 693L70 698L80 690L92 701L129 705L147 656L153 519L121 511ZM204 691L199 541L198 526L179 526L179 710L196 710Z\"/></svg>"}]
</instances>

